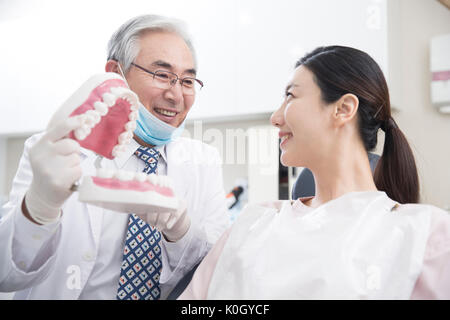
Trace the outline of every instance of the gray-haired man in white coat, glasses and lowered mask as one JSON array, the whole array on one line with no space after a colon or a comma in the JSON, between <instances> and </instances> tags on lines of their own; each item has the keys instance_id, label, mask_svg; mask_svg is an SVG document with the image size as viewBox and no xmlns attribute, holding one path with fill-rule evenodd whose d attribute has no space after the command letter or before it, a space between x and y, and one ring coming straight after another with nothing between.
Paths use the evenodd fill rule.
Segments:
<instances>
[{"instance_id":1,"label":"gray-haired man in white coat, glasses and lowered mask","mask_svg":"<svg viewBox=\"0 0 450 320\"><path fill-rule=\"evenodd\" d=\"M217 150L179 137L203 86L184 30L162 16L133 18L110 39L105 66L126 79L140 108L127 150L103 162L137 172L145 167L137 151L153 157L154 171L171 176L185 200L176 221L86 205L61 187L62 173L67 187L95 165L93 152L67 141L67 121L51 139L44 132L25 142L0 220L0 291L16 299L165 299L227 228ZM149 232L142 243L134 240L140 230Z\"/></svg>"}]
</instances>

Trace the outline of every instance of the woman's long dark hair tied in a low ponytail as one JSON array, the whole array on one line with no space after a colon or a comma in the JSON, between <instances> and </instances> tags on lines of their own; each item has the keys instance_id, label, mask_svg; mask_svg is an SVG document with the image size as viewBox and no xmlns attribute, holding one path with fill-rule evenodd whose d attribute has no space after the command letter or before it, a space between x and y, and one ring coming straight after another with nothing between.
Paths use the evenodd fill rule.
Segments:
<instances>
[{"instance_id":1,"label":"woman's long dark hair tied in a low ponytail","mask_svg":"<svg viewBox=\"0 0 450 320\"><path fill-rule=\"evenodd\" d=\"M343 46L319 47L297 61L313 74L325 103L344 94L359 99L359 133L366 151L377 145L378 129L385 132L384 149L374 172L378 190L400 203L419 201L419 177L411 148L391 116L386 80L365 52Z\"/></svg>"}]
</instances>

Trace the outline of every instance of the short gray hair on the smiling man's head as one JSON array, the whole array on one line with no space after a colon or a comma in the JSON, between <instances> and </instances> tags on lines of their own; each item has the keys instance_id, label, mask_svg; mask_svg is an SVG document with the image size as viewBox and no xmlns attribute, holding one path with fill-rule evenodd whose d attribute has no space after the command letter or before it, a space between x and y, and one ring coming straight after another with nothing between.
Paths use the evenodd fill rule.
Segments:
<instances>
[{"instance_id":1,"label":"short gray hair on the smiling man's head","mask_svg":"<svg viewBox=\"0 0 450 320\"><path fill-rule=\"evenodd\" d=\"M194 46L186 29L186 24L175 18L150 14L134 17L121 25L108 41L108 60L120 62L123 72L127 73L131 63L139 54L141 33L144 31L165 31L175 33L183 38L191 50L195 68L197 68Z\"/></svg>"}]
</instances>

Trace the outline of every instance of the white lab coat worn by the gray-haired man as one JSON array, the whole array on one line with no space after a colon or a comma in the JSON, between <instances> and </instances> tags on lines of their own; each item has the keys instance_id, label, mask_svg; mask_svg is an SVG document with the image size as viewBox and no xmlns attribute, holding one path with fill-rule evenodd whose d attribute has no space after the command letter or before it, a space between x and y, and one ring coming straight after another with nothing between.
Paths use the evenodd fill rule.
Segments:
<instances>
[{"instance_id":1,"label":"white lab coat worn by the gray-haired man","mask_svg":"<svg viewBox=\"0 0 450 320\"><path fill-rule=\"evenodd\" d=\"M96 262L102 208L79 202L74 193L63 206L61 222L47 227L54 233L50 240L43 243L39 233L14 238L15 223L29 222L22 215L21 203L32 179L28 152L40 136L25 142L10 201L2 209L0 291L16 291L16 299L77 299ZM96 156L85 149L83 154L83 175L92 175ZM175 194L187 199L191 228L177 243L162 246L161 298L167 297L229 226L217 150L200 141L178 138L166 146L166 155L167 175L174 181ZM28 257L35 255L31 266L24 268L13 255L13 239L27 248ZM80 282L73 283L77 271Z\"/></svg>"}]
</instances>

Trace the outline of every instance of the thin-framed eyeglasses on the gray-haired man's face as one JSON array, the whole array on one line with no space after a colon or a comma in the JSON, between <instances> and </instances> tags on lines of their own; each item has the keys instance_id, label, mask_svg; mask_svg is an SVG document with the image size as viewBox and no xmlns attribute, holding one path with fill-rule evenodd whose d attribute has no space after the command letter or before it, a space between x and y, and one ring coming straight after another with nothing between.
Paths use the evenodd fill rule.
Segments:
<instances>
[{"instance_id":1,"label":"thin-framed eyeglasses on the gray-haired man's face","mask_svg":"<svg viewBox=\"0 0 450 320\"><path fill-rule=\"evenodd\" d=\"M131 63L131 65L151 74L153 76L154 86L159 89L170 89L177 83L177 81L180 81L183 94L187 96L193 96L197 91L200 91L203 88L203 82L199 79L195 79L192 77L180 79L178 75L170 71L156 70L155 72L152 72L133 62Z\"/></svg>"}]
</instances>

